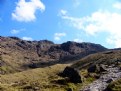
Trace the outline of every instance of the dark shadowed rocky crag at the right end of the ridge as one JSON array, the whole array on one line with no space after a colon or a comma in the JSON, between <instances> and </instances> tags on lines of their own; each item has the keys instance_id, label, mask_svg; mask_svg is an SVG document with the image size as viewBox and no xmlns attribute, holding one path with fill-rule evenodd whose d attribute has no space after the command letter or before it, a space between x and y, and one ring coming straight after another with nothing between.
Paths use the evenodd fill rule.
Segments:
<instances>
[{"instance_id":1,"label":"dark shadowed rocky crag at the right end of the ridge","mask_svg":"<svg viewBox=\"0 0 121 91\"><path fill-rule=\"evenodd\" d=\"M105 48L99 44L93 43L76 43L68 41L61 44L61 49L69 52L70 54L80 54L80 53L95 53L96 51L104 51Z\"/></svg>"}]
</instances>

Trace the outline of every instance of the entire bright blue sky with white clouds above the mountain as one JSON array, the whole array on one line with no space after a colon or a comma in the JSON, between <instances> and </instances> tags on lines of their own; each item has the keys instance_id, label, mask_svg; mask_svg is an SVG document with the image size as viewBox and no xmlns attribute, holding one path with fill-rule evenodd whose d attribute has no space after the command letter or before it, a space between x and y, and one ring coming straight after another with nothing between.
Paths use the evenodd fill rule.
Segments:
<instances>
[{"instance_id":1,"label":"entire bright blue sky with white clouds above the mountain","mask_svg":"<svg viewBox=\"0 0 121 91\"><path fill-rule=\"evenodd\" d=\"M0 0L0 36L121 47L121 0Z\"/></svg>"}]
</instances>

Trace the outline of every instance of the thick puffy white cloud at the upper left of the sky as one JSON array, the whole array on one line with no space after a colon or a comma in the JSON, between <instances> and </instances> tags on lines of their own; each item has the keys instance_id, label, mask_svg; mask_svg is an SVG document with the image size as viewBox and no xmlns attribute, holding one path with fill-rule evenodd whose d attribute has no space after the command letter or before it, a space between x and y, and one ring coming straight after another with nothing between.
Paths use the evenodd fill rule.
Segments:
<instances>
[{"instance_id":1,"label":"thick puffy white cloud at the upper left of the sky","mask_svg":"<svg viewBox=\"0 0 121 91\"><path fill-rule=\"evenodd\" d=\"M45 10L45 6L40 0L30 0L30 2L19 0L16 9L12 13L12 18L20 22L34 21L36 10Z\"/></svg>"}]
</instances>

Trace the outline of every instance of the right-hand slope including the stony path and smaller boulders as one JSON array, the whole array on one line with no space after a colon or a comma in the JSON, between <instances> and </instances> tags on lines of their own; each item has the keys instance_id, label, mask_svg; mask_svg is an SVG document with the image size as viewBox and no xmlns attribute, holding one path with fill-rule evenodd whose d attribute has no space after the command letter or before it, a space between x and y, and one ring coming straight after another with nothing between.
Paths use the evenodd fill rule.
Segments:
<instances>
[{"instance_id":1,"label":"right-hand slope including the stony path and smaller boulders","mask_svg":"<svg viewBox=\"0 0 121 91\"><path fill-rule=\"evenodd\" d=\"M78 69L85 80L94 79L89 85L86 84L79 91L121 91L120 82L113 81L121 79L121 50L109 50L105 52L91 54L82 58L77 63L71 65ZM85 84L85 81L84 83ZM112 89L115 86L115 89ZM108 88L107 88L108 87Z\"/></svg>"}]
</instances>

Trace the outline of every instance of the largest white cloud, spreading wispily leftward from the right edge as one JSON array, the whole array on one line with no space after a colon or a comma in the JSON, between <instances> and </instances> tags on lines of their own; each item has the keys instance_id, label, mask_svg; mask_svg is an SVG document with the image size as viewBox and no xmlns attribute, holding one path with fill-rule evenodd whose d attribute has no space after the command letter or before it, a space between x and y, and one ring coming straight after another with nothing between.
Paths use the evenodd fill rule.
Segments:
<instances>
[{"instance_id":1,"label":"largest white cloud, spreading wispily leftward from the right edge","mask_svg":"<svg viewBox=\"0 0 121 91\"><path fill-rule=\"evenodd\" d=\"M63 15L62 19L78 30L86 32L88 35L97 33L108 33L107 39L112 41L115 47L121 47L121 14L109 11L97 11L90 16L81 18ZM113 38L111 38L113 36ZM111 38L111 39L110 39Z\"/></svg>"}]
</instances>

